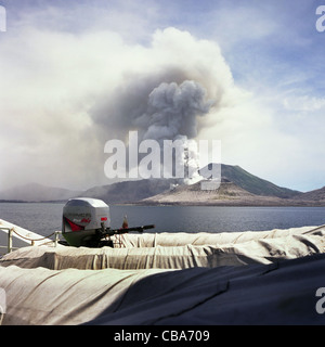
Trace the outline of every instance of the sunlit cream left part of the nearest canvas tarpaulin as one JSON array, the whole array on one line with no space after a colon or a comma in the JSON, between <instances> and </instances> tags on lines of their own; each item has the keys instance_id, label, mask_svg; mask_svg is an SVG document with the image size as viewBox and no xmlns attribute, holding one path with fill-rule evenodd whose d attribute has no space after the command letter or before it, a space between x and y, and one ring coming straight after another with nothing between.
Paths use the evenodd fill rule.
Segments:
<instances>
[{"instance_id":1,"label":"sunlit cream left part of the nearest canvas tarpaulin","mask_svg":"<svg viewBox=\"0 0 325 347\"><path fill-rule=\"evenodd\" d=\"M49 270L0 267L6 293L2 324L80 324L116 310L134 282L157 270Z\"/></svg>"}]
</instances>

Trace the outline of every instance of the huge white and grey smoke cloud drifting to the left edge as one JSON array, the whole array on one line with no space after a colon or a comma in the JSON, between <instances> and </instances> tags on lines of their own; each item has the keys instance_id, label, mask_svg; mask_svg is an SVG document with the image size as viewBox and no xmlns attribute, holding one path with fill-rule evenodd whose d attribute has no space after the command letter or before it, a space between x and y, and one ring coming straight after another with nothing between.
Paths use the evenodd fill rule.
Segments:
<instances>
[{"instance_id":1,"label":"huge white and grey smoke cloud drifting to the left edge","mask_svg":"<svg viewBox=\"0 0 325 347\"><path fill-rule=\"evenodd\" d=\"M191 144L237 95L218 44L176 28L157 30L150 44L126 43L113 31L30 28L8 33L0 56L2 189L110 183L106 141L138 130L140 141Z\"/></svg>"}]
</instances>

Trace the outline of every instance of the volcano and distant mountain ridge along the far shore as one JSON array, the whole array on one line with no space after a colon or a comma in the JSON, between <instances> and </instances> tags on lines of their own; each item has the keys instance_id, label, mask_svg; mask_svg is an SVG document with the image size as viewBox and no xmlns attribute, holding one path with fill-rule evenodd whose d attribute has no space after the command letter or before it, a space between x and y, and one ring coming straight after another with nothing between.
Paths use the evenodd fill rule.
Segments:
<instances>
[{"instance_id":1,"label":"volcano and distant mountain ridge along the far shore","mask_svg":"<svg viewBox=\"0 0 325 347\"><path fill-rule=\"evenodd\" d=\"M209 164L200 170L211 169ZM239 166L221 165L222 182L218 190L202 191L200 182L176 184L176 179L142 179L72 191L37 183L0 192L0 201L54 202L70 197L100 198L107 204L259 205L325 206L325 187L301 193L263 180Z\"/></svg>"}]
</instances>

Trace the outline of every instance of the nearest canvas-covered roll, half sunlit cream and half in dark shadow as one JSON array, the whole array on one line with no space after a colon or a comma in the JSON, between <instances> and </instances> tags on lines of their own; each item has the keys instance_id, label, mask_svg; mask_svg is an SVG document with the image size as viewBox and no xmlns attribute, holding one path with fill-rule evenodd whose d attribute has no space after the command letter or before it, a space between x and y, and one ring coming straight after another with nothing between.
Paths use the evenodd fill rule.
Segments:
<instances>
[{"instance_id":1,"label":"nearest canvas-covered roll, half sunlit cream and half in dark shadow","mask_svg":"<svg viewBox=\"0 0 325 347\"><path fill-rule=\"evenodd\" d=\"M324 324L324 254L169 271L0 267L3 324Z\"/></svg>"}]
</instances>

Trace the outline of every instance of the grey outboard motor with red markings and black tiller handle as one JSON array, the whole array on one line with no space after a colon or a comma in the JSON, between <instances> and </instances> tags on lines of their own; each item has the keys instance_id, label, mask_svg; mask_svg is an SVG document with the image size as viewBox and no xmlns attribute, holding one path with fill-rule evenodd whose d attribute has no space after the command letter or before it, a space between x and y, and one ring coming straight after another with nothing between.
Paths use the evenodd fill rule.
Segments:
<instances>
[{"instance_id":1,"label":"grey outboard motor with red markings and black tiller handle","mask_svg":"<svg viewBox=\"0 0 325 347\"><path fill-rule=\"evenodd\" d=\"M101 200L70 198L63 208L62 235L74 247L114 247L110 236L155 228L154 224L129 228L126 217L120 229L110 229L109 224L109 206Z\"/></svg>"}]
</instances>

